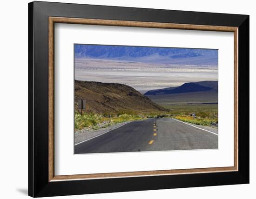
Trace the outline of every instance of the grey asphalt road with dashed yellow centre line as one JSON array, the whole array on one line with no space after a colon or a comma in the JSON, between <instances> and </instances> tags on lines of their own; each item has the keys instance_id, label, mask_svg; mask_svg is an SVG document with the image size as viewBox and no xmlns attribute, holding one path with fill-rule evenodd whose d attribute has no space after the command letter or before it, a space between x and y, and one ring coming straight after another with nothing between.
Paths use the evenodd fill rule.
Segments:
<instances>
[{"instance_id":1,"label":"grey asphalt road with dashed yellow centre line","mask_svg":"<svg viewBox=\"0 0 256 199\"><path fill-rule=\"evenodd\" d=\"M218 136L174 119L134 121L74 147L74 153L216 149Z\"/></svg>"}]
</instances>

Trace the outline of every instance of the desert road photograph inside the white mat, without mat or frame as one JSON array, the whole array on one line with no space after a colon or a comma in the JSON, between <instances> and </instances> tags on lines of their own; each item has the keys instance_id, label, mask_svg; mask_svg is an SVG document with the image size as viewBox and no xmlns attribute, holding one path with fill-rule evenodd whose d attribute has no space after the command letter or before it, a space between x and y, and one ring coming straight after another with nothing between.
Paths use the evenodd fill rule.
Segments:
<instances>
[{"instance_id":1,"label":"desert road photograph inside the white mat, without mat or frame","mask_svg":"<svg viewBox=\"0 0 256 199\"><path fill-rule=\"evenodd\" d=\"M218 148L218 50L74 44L74 153Z\"/></svg>"}]
</instances>

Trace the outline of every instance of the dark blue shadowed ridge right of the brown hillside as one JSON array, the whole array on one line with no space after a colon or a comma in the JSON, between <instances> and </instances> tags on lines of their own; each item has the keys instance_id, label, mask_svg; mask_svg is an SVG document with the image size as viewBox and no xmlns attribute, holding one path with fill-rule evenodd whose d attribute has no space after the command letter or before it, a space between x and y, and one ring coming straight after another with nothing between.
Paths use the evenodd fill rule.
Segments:
<instances>
[{"instance_id":1,"label":"dark blue shadowed ridge right of the brown hillside","mask_svg":"<svg viewBox=\"0 0 256 199\"><path fill-rule=\"evenodd\" d=\"M144 95L165 95L174 93L193 93L202 91L218 91L218 81L199 81L182 84L182 86L150 90Z\"/></svg>"}]
</instances>

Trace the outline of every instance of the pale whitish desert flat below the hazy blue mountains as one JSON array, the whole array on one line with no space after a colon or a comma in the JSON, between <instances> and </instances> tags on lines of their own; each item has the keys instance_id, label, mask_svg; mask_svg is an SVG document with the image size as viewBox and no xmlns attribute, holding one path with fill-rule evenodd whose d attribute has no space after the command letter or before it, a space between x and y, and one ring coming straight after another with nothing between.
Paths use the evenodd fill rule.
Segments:
<instances>
[{"instance_id":1,"label":"pale whitish desert flat below the hazy blue mountains","mask_svg":"<svg viewBox=\"0 0 256 199\"><path fill-rule=\"evenodd\" d=\"M76 58L74 67L75 80L126 84L141 93L152 89L181 86L186 82L218 80L217 66Z\"/></svg>"}]
</instances>

